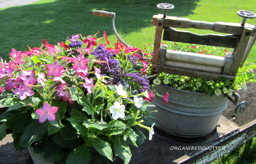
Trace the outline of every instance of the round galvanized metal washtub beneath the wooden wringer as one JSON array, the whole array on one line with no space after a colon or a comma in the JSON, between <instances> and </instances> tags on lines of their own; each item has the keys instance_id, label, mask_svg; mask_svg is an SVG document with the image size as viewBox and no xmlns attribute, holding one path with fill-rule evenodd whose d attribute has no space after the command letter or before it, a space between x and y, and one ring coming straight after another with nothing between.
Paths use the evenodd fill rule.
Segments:
<instances>
[{"instance_id":1,"label":"round galvanized metal washtub beneath the wooden wringer","mask_svg":"<svg viewBox=\"0 0 256 164\"><path fill-rule=\"evenodd\" d=\"M163 105L162 98L155 96L153 103L156 107L147 110L158 110L152 113L159 125L156 128L174 136L196 138L211 133L228 104L224 94L210 96L162 84L156 85L155 89L160 95L169 93L168 104Z\"/></svg>"}]
</instances>

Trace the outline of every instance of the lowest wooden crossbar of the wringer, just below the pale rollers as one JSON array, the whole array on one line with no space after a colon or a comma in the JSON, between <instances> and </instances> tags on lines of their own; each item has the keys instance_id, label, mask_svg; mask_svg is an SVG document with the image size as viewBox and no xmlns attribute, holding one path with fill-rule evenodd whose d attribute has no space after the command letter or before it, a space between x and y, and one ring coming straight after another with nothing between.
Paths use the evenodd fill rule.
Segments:
<instances>
[{"instance_id":1,"label":"lowest wooden crossbar of the wringer, just below the pale rollers","mask_svg":"<svg viewBox=\"0 0 256 164\"><path fill-rule=\"evenodd\" d=\"M196 71L196 70L187 70L183 68L175 68L175 67L168 67L168 66L160 66L152 64L152 71L154 72L166 72L168 74L177 74L182 76L188 76L188 77L204 77L206 80L219 80L219 77L227 78L229 80L234 80L235 76L230 75L224 75L224 74L214 74L209 72L202 72L202 71Z\"/></svg>"}]
</instances>

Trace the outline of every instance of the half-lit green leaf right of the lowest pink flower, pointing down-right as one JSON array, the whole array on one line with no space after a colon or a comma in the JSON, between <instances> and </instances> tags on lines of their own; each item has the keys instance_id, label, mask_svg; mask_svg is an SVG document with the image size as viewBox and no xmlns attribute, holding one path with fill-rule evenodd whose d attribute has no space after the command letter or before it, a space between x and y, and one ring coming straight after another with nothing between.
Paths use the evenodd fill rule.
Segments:
<instances>
[{"instance_id":1,"label":"half-lit green leaf right of the lowest pink flower, pointing down-right","mask_svg":"<svg viewBox=\"0 0 256 164\"><path fill-rule=\"evenodd\" d=\"M83 136L87 136L88 129L83 125L84 118L82 117L70 117L67 118L71 122L72 126L77 130L77 132Z\"/></svg>"}]
</instances>

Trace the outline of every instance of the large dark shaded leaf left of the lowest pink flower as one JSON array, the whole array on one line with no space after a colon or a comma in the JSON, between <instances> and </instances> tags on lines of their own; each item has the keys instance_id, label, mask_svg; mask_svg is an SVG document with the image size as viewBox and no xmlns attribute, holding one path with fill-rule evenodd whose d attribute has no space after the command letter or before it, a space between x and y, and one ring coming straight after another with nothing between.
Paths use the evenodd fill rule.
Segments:
<instances>
[{"instance_id":1,"label":"large dark shaded leaf left of the lowest pink flower","mask_svg":"<svg viewBox=\"0 0 256 164\"><path fill-rule=\"evenodd\" d=\"M26 127L32 122L32 118L27 113L17 113L10 117L6 124L14 132L20 133L24 132Z\"/></svg>"}]
</instances>

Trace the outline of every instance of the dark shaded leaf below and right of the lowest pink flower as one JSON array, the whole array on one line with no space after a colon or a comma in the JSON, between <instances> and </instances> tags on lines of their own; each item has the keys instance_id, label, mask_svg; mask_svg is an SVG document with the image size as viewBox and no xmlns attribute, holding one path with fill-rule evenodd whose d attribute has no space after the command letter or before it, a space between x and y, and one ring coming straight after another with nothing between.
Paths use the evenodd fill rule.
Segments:
<instances>
[{"instance_id":1,"label":"dark shaded leaf below and right of the lowest pink flower","mask_svg":"<svg viewBox=\"0 0 256 164\"><path fill-rule=\"evenodd\" d=\"M69 122L65 124L64 128L61 128L60 135L63 140L74 140L79 137L77 130Z\"/></svg>"}]
</instances>

